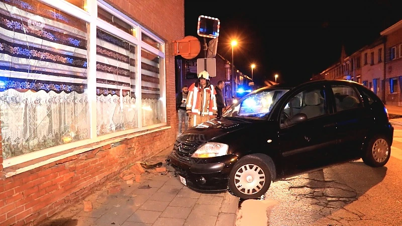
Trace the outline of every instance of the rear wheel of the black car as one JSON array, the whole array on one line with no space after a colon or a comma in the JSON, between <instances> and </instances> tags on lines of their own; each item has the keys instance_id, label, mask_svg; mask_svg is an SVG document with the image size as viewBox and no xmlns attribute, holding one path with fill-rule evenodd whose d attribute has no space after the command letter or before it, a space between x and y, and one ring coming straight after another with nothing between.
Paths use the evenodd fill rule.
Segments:
<instances>
[{"instance_id":1,"label":"rear wheel of the black car","mask_svg":"<svg viewBox=\"0 0 402 226\"><path fill-rule=\"evenodd\" d=\"M371 138L363 151L363 162L371 167L384 166L391 156L391 146L384 136Z\"/></svg>"}]
</instances>

